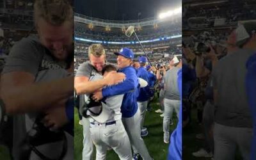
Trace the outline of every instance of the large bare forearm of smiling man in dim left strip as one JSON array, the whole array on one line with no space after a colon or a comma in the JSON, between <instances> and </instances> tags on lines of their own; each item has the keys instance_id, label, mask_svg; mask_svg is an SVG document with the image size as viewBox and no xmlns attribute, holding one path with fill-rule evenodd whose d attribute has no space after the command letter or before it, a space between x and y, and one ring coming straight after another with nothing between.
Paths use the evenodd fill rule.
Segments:
<instances>
[{"instance_id":1,"label":"large bare forearm of smiling man in dim left strip","mask_svg":"<svg viewBox=\"0 0 256 160\"><path fill-rule=\"evenodd\" d=\"M74 93L74 77L34 83L28 72L9 72L1 77L1 98L7 113L41 111L63 104Z\"/></svg>"}]
</instances>

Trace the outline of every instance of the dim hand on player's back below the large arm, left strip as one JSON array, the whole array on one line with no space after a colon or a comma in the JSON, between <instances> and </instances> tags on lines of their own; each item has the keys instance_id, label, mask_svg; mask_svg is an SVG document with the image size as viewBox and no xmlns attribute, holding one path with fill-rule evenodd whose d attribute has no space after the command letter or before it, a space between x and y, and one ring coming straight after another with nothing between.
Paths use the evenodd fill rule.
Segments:
<instances>
[{"instance_id":1,"label":"dim hand on player's back below the large arm, left strip","mask_svg":"<svg viewBox=\"0 0 256 160\"><path fill-rule=\"evenodd\" d=\"M63 125L68 123L65 106L47 109L42 123L45 127L49 127L54 130L63 127Z\"/></svg>"}]
</instances>

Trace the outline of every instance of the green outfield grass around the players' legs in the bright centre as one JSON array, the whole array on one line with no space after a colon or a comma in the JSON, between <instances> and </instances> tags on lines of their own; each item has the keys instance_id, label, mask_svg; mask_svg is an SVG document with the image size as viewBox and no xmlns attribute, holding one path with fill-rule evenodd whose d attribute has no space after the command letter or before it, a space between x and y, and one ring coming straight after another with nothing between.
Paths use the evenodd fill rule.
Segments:
<instances>
[{"instance_id":1,"label":"green outfield grass around the players' legs in the bright centre","mask_svg":"<svg viewBox=\"0 0 256 160\"><path fill-rule=\"evenodd\" d=\"M166 159L168 154L168 144L163 142L163 118L160 117L159 113L155 113L156 109L159 109L159 104L157 104L157 98L151 103L152 111L147 112L145 119L145 127L148 129L148 136L144 137L143 140L148 148L150 156L155 160ZM175 129L177 125L177 118L175 113L173 113L173 125L170 126L170 132ZM75 111L75 138L74 138L74 157L76 160L82 159L83 150L83 127L78 124L79 118L77 115L77 109ZM95 152L93 153L95 159ZM113 150L108 151L107 159L115 160L119 159Z\"/></svg>"}]
</instances>

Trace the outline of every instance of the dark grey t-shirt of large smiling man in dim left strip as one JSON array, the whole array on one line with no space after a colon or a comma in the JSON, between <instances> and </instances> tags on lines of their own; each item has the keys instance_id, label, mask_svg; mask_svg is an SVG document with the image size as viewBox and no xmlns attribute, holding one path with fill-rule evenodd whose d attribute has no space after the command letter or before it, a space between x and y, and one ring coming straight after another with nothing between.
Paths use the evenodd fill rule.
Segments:
<instances>
[{"instance_id":1,"label":"dark grey t-shirt of large smiling man in dim left strip","mask_svg":"<svg viewBox=\"0 0 256 160\"><path fill-rule=\"evenodd\" d=\"M40 44L37 36L29 36L22 38L12 47L2 74L28 72L35 76L36 83L67 77L68 72L65 68L66 63L54 60L49 50ZM20 158L20 152L22 152L20 144L24 143L26 132L33 127L37 115L38 113L26 113L13 116L13 156L15 159Z\"/></svg>"}]
</instances>

